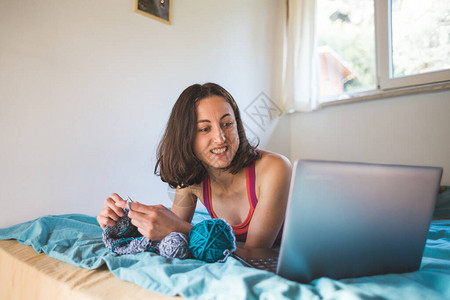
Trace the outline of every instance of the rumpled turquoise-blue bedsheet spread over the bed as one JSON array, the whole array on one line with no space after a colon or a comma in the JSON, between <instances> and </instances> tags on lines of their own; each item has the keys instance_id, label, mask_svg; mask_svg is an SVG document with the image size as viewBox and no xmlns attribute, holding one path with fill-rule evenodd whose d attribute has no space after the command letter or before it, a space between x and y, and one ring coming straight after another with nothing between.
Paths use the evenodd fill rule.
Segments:
<instances>
[{"instance_id":1,"label":"rumpled turquoise-blue bedsheet spread over the bed","mask_svg":"<svg viewBox=\"0 0 450 300\"><path fill-rule=\"evenodd\" d=\"M203 218L196 214L197 221ZM104 247L101 232L94 217L70 214L0 229L0 239L17 239L82 268L106 264L120 279L192 299L450 299L450 220L431 224L420 271L338 281L321 278L310 284L244 267L231 257L209 264L152 253L116 256Z\"/></svg>"}]
</instances>

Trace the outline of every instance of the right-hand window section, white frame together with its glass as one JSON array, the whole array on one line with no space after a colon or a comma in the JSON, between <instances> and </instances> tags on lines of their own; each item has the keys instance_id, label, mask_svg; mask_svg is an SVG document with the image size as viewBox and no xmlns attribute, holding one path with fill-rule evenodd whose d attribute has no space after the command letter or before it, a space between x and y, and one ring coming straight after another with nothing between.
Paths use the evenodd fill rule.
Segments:
<instances>
[{"instance_id":1,"label":"right-hand window section, white frame together with its glass","mask_svg":"<svg viewBox=\"0 0 450 300\"><path fill-rule=\"evenodd\" d=\"M450 2L377 2L381 88L450 80Z\"/></svg>"}]
</instances>

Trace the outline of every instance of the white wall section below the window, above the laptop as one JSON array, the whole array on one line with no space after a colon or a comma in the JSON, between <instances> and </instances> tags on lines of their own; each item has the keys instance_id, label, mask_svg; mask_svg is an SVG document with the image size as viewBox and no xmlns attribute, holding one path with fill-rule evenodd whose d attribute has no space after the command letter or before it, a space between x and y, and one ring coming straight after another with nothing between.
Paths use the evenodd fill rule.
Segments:
<instances>
[{"instance_id":1,"label":"white wall section below the window, above the laptop","mask_svg":"<svg viewBox=\"0 0 450 300\"><path fill-rule=\"evenodd\" d=\"M450 185L450 91L332 106L291 119L291 159L441 166Z\"/></svg>"}]
</instances>

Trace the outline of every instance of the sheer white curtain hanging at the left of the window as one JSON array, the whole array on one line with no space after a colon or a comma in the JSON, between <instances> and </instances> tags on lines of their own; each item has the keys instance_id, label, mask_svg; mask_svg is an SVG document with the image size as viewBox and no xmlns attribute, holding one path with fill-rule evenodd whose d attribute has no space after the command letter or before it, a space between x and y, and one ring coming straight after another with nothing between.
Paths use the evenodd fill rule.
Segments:
<instances>
[{"instance_id":1,"label":"sheer white curtain hanging at the left of the window","mask_svg":"<svg viewBox=\"0 0 450 300\"><path fill-rule=\"evenodd\" d=\"M286 112L318 108L316 0L287 0L283 104Z\"/></svg>"}]
</instances>

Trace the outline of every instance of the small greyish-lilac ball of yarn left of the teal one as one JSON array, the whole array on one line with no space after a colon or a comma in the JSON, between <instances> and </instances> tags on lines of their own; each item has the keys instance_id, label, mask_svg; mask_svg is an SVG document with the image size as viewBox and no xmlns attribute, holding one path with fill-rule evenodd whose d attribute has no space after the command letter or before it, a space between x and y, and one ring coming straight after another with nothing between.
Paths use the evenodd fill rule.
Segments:
<instances>
[{"instance_id":1,"label":"small greyish-lilac ball of yarn left of the teal one","mask_svg":"<svg viewBox=\"0 0 450 300\"><path fill-rule=\"evenodd\" d=\"M169 258L189 258L189 242L185 234L171 232L159 244L159 255Z\"/></svg>"}]
</instances>

